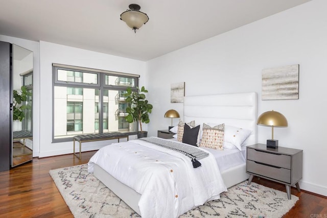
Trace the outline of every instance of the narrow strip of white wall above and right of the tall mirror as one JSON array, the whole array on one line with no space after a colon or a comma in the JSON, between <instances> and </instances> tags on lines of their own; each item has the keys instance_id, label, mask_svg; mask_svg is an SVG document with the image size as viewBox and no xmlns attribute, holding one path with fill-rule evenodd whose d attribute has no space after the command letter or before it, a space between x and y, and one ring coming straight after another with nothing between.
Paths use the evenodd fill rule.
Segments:
<instances>
[{"instance_id":1,"label":"narrow strip of white wall above and right of the tall mirror","mask_svg":"<svg viewBox=\"0 0 327 218\"><path fill-rule=\"evenodd\" d=\"M0 41L9 42L19 45L33 52L33 157L37 157L39 154L39 131L40 131L40 119L39 119L39 89L40 89L40 55L39 55L39 43L26 39L20 39L10 36L0 35Z\"/></svg>"}]
</instances>

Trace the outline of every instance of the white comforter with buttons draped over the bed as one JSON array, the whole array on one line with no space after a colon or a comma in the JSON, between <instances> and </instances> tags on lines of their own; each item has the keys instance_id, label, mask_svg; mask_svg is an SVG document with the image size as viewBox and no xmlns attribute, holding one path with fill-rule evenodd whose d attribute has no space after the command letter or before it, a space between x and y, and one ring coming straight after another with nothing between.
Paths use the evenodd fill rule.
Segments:
<instances>
[{"instance_id":1,"label":"white comforter with buttons draped over the bed","mask_svg":"<svg viewBox=\"0 0 327 218\"><path fill-rule=\"evenodd\" d=\"M200 148L201 149L201 148ZM100 149L89 161L140 193L142 217L178 217L226 191L212 154L193 168L191 159L179 152L135 139Z\"/></svg>"}]
</instances>

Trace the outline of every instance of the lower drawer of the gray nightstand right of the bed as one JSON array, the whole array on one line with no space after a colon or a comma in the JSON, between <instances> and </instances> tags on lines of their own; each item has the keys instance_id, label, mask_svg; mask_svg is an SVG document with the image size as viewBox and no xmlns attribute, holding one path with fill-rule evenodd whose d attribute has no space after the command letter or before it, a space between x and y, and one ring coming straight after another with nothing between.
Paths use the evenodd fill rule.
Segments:
<instances>
[{"instance_id":1,"label":"lower drawer of the gray nightstand right of the bed","mask_svg":"<svg viewBox=\"0 0 327 218\"><path fill-rule=\"evenodd\" d=\"M275 180L279 180L286 183L291 183L290 169L267 166L265 164L254 162L251 160L247 160L246 164L247 164L247 171L249 173L258 174L268 178L273 178Z\"/></svg>"}]
</instances>

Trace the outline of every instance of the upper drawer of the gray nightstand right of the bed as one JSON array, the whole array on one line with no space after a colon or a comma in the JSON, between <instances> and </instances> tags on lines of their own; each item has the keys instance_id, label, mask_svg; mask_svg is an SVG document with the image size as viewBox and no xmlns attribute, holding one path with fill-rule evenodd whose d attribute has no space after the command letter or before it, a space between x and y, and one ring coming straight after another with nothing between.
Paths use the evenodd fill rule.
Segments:
<instances>
[{"instance_id":1,"label":"upper drawer of the gray nightstand right of the bed","mask_svg":"<svg viewBox=\"0 0 327 218\"><path fill-rule=\"evenodd\" d=\"M248 149L247 159L261 163L267 163L273 166L279 166L291 169L291 156L284 154L274 154L265 151Z\"/></svg>"}]
</instances>

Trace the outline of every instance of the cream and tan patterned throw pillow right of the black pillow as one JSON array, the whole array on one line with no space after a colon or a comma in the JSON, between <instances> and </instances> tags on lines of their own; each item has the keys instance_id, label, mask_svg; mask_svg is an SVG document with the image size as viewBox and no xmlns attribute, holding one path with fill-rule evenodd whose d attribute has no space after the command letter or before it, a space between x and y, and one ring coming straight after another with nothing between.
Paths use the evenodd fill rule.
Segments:
<instances>
[{"instance_id":1,"label":"cream and tan patterned throw pillow right of the black pillow","mask_svg":"<svg viewBox=\"0 0 327 218\"><path fill-rule=\"evenodd\" d=\"M225 124L219 124L214 127L203 124L203 134L200 147L224 150L224 129Z\"/></svg>"}]
</instances>

